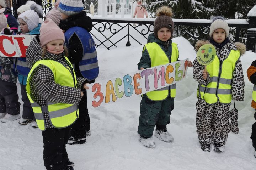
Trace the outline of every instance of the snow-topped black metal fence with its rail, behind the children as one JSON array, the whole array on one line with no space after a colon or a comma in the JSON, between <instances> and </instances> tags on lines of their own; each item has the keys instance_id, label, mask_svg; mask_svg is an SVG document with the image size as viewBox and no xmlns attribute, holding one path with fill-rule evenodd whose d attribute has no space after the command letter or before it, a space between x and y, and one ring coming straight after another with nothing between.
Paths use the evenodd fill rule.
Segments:
<instances>
[{"instance_id":1,"label":"snow-topped black metal fence with its rail, behind the children","mask_svg":"<svg viewBox=\"0 0 256 170\"><path fill-rule=\"evenodd\" d=\"M154 19L130 19L93 17L92 36L96 47L104 46L107 49L119 46L136 46L146 43L148 35L153 33ZM192 45L199 39L209 38L211 20L207 19L173 19L175 24L174 37L184 36ZM255 50L256 17L246 19L227 20L230 27L229 38L232 42L247 44L247 50ZM137 24L134 26L134 24ZM247 30L248 29L248 30ZM138 34L139 33L139 34Z\"/></svg>"}]
</instances>

